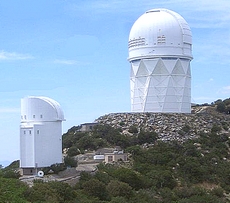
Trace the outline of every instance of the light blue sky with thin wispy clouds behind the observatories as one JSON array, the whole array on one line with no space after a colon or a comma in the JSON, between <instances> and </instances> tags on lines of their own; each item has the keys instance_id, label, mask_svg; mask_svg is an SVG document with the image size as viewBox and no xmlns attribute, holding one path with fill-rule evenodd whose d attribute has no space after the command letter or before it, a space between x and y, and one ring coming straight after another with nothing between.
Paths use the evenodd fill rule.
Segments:
<instances>
[{"instance_id":1,"label":"light blue sky with thin wispy clouds behind the observatories","mask_svg":"<svg viewBox=\"0 0 230 203\"><path fill-rule=\"evenodd\" d=\"M0 1L0 164L19 159L25 96L59 102L63 133L130 111L129 31L153 8L173 10L191 27L192 102L230 97L229 0Z\"/></svg>"}]
</instances>

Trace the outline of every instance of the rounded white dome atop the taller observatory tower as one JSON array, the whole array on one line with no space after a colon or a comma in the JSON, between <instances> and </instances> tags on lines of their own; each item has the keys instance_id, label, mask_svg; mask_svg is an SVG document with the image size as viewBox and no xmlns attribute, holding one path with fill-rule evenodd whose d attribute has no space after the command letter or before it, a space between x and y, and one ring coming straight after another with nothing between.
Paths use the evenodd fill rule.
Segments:
<instances>
[{"instance_id":1,"label":"rounded white dome atop the taller observatory tower","mask_svg":"<svg viewBox=\"0 0 230 203\"><path fill-rule=\"evenodd\" d=\"M149 57L192 59L192 34L182 16L167 9L145 12L129 34L129 60Z\"/></svg>"}]
</instances>

